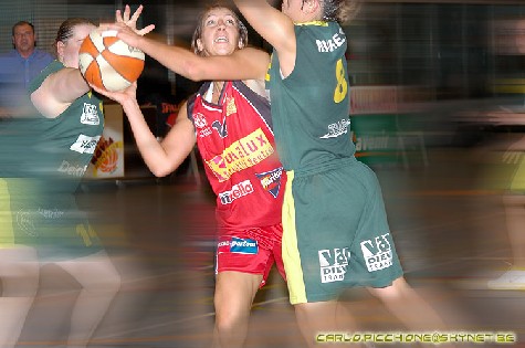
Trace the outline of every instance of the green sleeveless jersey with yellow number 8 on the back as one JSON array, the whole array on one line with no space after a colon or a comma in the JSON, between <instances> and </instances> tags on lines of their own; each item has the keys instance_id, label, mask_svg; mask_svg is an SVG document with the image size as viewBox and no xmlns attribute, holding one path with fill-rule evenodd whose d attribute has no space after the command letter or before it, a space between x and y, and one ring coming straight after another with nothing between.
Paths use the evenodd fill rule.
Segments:
<instances>
[{"instance_id":1,"label":"green sleeveless jersey with yellow number 8 on the back","mask_svg":"<svg viewBox=\"0 0 525 348\"><path fill-rule=\"evenodd\" d=\"M316 170L353 157L346 35L336 22L295 25L295 67L282 78L277 54L266 75L275 140L286 170Z\"/></svg>"}]
</instances>

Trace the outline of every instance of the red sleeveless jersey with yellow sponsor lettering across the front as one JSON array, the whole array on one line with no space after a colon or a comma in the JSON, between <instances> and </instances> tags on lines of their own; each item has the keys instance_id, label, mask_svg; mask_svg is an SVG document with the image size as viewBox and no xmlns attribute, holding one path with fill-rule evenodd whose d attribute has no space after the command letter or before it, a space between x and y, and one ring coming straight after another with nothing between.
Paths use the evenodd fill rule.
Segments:
<instances>
[{"instance_id":1,"label":"red sleeveless jersey with yellow sponsor lettering across the front","mask_svg":"<svg viewBox=\"0 0 525 348\"><path fill-rule=\"evenodd\" d=\"M277 158L269 102L243 82L227 82L219 103L204 83L188 101L197 146L217 194L219 229L281 222L285 172Z\"/></svg>"}]
</instances>

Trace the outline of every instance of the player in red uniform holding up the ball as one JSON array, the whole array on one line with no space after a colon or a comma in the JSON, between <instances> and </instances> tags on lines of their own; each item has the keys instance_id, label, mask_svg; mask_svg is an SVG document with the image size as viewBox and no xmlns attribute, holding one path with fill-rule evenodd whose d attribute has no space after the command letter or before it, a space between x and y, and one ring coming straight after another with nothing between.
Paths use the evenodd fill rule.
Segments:
<instances>
[{"instance_id":1,"label":"player in red uniform holding up the ball","mask_svg":"<svg viewBox=\"0 0 525 348\"><path fill-rule=\"evenodd\" d=\"M234 12L216 6L203 12L192 48L201 56L229 55L246 41L246 28ZM276 156L264 82L204 83L182 105L161 143L144 119L136 84L119 93L94 88L123 105L140 154L157 177L171 173L197 144L217 194L214 344L241 347L253 298L273 263L285 277L281 208L286 178Z\"/></svg>"}]
</instances>

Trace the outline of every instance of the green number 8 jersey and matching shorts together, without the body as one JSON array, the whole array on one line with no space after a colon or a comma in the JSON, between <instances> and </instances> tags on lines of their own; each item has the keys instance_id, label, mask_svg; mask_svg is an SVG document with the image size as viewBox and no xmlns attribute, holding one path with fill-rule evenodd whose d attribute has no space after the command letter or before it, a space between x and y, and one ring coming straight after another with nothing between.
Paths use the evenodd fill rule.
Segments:
<instances>
[{"instance_id":1,"label":"green number 8 jersey and matching shorts together, without the body","mask_svg":"<svg viewBox=\"0 0 525 348\"><path fill-rule=\"evenodd\" d=\"M283 261L290 300L301 304L336 298L347 286L388 286L402 268L377 178L354 156L346 35L337 22L294 30L294 70L283 78L274 52L266 87L287 173Z\"/></svg>"}]
</instances>

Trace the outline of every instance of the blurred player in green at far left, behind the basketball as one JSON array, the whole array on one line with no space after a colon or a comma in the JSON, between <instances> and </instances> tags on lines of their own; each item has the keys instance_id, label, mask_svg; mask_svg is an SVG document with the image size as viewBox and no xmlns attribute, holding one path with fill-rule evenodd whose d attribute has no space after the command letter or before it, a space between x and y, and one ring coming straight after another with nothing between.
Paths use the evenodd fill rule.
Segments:
<instances>
[{"instance_id":1,"label":"blurred player in green at far left, behind the basketball","mask_svg":"<svg viewBox=\"0 0 525 348\"><path fill-rule=\"evenodd\" d=\"M123 23L135 29L139 14ZM71 313L69 348L88 345L120 286L119 274L74 198L104 126L102 101L78 70L78 49L95 28L82 18L61 24L57 59L29 87L33 114L2 128L2 348L18 340L38 289L39 263L57 265L82 286Z\"/></svg>"}]
</instances>

